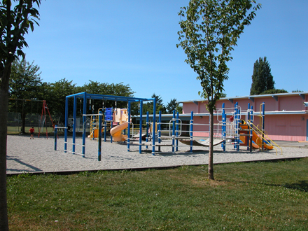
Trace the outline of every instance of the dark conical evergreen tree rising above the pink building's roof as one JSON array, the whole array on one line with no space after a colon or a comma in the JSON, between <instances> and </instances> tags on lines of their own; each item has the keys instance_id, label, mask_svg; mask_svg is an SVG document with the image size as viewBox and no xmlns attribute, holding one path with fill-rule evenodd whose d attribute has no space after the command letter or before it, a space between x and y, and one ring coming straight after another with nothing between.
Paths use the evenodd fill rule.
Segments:
<instances>
[{"instance_id":1,"label":"dark conical evergreen tree rising above the pink building's roof","mask_svg":"<svg viewBox=\"0 0 308 231\"><path fill-rule=\"evenodd\" d=\"M275 82L269 66L266 57L263 59L259 57L259 59L255 61L255 64L253 64L251 95L264 94L262 92L274 89Z\"/></svg>"}]
</instances>

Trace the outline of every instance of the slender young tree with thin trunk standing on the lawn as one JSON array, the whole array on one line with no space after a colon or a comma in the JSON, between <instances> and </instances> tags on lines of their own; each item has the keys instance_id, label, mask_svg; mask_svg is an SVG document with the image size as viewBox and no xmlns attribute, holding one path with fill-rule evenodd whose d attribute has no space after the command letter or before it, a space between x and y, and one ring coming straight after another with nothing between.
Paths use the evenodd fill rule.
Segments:
<instances>
[{"instance_id":1,"label":"slender young tree with thin trunk standing on the lawn","mask_svg":"<svg viewBox=\"0 0 308 231\"><path fill-rule=\"evenodd\" d=\"M227 63L231 51L244 27L255 17L260 4L241 0L190 0L188 7L182 7L179 15L181 46L187 55L186 62L197 73L202 91L207 99L210 114L209 179L214 179L213 134L214 110L223 92L223 81L228 79Z\"/></svg>"}]
</instances>

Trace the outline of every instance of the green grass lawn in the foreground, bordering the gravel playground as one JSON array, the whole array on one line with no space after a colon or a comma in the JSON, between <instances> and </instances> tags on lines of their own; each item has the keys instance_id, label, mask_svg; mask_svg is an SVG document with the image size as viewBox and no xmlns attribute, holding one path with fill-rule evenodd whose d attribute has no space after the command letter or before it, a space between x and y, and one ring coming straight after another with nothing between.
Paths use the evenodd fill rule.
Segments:
<instances>
[{"instance_id":1,"label":"green grass lawn in the foreground, bordering the gravel playground","mask_svg":"<svg viewBox=\"0 0 308 231\"><path fill-rule=\"evenodd\" d=\"M308 158L8 176L10 230L308 230Z\"/></svg>"}]
</instances>

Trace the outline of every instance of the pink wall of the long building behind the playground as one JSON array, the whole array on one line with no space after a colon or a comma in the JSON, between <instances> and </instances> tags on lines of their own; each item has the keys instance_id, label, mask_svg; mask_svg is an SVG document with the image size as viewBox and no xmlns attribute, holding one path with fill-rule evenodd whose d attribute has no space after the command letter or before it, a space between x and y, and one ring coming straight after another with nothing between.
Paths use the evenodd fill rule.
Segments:
<instances>
[{"instance_id":1,"label":"pink wall of the long building behind the playground","mask_svg":"<svg viewBox=\"0 0 308 231\"><path fill-rule=\"evenodd\" d=\"M307 92L306 92L307 93ZM268 137L272 140L281 141L307 141L307 123L308 123L308 108L304 106L303 102L308 102L308 93L304 94L304 99L300 94L275 94L274 97L266 95L265 97L237 97L233 99L233 104L228 99L218 100L216 109L222 107L225 103L225 108L233 108L238 102L241 107L241 112L247 110L248 103L253 106L253 111L260 111L260 104L265 103L265 131ZM198 105L197 105L198 104ZM209 124L209 116L197 116L196 113L209 113L206 109L206 102L198 101L183 102L183 113L194 112L194 123ZM306 111L306 113L305 113ZM244 115L242 115L244 116ZM258 125L258 118L254 118L255 125ZM216 116L214 123L218 123ZM194 126L194 135L200 137L209 136L208 126Z\"/></svg>"}]
</instances>

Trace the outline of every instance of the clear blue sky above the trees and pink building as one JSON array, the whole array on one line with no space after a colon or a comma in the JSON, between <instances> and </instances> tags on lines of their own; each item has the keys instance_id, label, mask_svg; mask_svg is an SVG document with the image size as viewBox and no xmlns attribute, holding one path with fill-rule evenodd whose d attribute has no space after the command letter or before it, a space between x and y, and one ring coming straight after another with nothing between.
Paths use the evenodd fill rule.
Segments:
<instances>
[{"instance_id":1,"label":"clear blue sky above the trees and pink building","mask_svg":"<svg viewBox=\"0 0 308 231\"><path fill-rule=\"evenodd\" d=\"M179 10L188 0L42 0L40 27L26 36L28 62L41 78L84 85L129 84L135 97L159 94L170 99L200 99L196 74L184 62L179 43ZM232 52L228 97L248 95L253 64L267 57L275 87L308 90L308 1L262 0L251 25Z\"/></svg>"}]
</instances>

